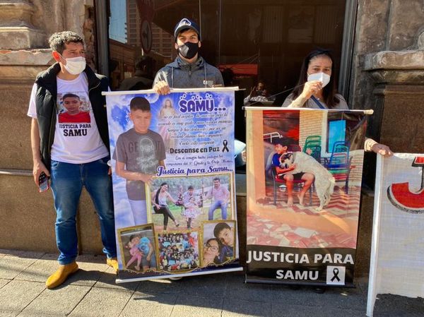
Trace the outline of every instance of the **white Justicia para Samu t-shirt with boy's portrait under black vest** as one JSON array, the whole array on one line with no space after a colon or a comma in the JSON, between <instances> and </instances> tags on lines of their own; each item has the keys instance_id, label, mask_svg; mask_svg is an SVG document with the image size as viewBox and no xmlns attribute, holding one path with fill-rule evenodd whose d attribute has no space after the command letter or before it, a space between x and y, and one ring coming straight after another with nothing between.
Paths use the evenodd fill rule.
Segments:
<instances>
[{"instance_id":1,"label":"white Justicia para Samu t-shirt with boy's portrait under black vest","mask_svg":"<svg viewBox=\"0 0 424 317\"><path fill-rule=\"evenodd\" d=\"M37 119L36 93L37 84L34 84L28 116L35 119ZM57 78L57 112L51 150L52 160L83 164L107 155L109 152L100 138L88 98L86 73L81 73L74 80Z\"/></svg>"}]
</instances>

